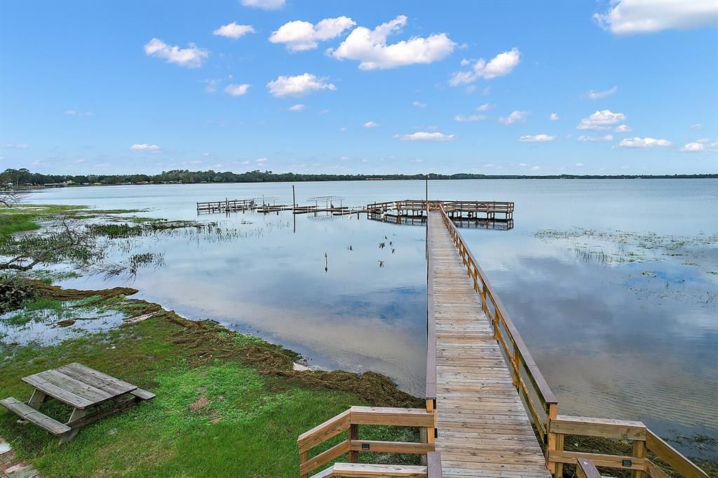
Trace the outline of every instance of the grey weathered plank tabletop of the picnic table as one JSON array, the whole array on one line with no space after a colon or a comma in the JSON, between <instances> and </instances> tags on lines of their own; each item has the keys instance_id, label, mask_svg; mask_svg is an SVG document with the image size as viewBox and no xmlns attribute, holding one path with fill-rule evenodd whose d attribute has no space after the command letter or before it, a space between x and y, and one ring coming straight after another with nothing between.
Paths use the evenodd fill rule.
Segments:
<instances>
[{"instance_id":1,"label":"grey weathered plank tabletop of the picnic table","mask_svg":"<svg viewBox=\"0 0 718 478\"><path fill-rule=\"evenodd\" d=\"M137 388L79 363L39 372L22 380L75 408L87 408Z\"/></svg>"}]
</instances>

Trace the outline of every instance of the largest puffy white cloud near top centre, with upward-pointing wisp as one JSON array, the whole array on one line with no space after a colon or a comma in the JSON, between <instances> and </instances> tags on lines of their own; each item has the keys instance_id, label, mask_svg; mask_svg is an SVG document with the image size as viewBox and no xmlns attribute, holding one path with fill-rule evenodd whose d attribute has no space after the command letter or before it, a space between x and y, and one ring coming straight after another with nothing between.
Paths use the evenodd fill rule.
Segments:
<instances>
[{"instance_id":1,"label":"largest puffy white cloud near top centre, with upward-pointing wisp","mask_svg":"<svg viewBox=\"0 0 718 478\"><path fill-rule=\"evenodd\" d=\"M339 47L327 52L337 60L358 60L360 70L382 70L436 62L454 51L456 44L445 33L432 34L426 38L411 37L386 44L387 37L399 32L404 25L406 16L399 15L373 30L357 27Z\"/></svg>"}]
</instances>

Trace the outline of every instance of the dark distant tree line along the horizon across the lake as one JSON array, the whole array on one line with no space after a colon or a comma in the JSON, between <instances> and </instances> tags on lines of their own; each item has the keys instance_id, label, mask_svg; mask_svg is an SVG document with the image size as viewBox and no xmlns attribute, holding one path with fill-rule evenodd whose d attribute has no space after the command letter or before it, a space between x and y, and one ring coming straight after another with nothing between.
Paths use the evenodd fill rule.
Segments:
<instances>
[{"instance_id":1,"label":"dark distant tree line along the horizon across the lake","mask_svg":"<svg viewBox=\"0 0 718 478\"><path fill-rule=\"evenodd\" d=\"M718 174L559 174L559 175L519 175L519 174L429 174L429 179L674 179L674 178L718 178ZM302 182L302 181L368 181L374 179L425 179L426 174L297 174L274 173L271 171L248 171L243 173L207 171L189 171L174 169L160 174L41 174L28 169L6 169L0 173L0 184L15 186L42 186L45 184L196 184L202 182Z\"/></svg>"}]
</instances>

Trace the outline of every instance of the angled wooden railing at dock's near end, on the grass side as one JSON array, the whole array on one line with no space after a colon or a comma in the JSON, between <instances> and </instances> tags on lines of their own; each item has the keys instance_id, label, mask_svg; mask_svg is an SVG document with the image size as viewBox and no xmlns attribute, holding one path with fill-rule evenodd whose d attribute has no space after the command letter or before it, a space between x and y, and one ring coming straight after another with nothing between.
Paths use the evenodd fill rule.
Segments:
<instances>
[{"instance_id":1,"label":"angled wooden railing at dock's near end, on the grass side","mask_svg":"<svg viewBox=\"0 0 718 478\"><path fill-rule=\"evenodd\" d=\"M309 477L309 472L337 459L342 454L348 455L350 463L356 463L360 451L401 454L426 454L429 451L434 451L432 443L360 440L358 426L416 426L426 429L433 428L435 421L435 414L427 412L423 408L353 406L299 436L297 439L299 476ZM314 447L345 431L348 431L347 439L309 458L309 451Z\"/></svg>"}]
</instances>

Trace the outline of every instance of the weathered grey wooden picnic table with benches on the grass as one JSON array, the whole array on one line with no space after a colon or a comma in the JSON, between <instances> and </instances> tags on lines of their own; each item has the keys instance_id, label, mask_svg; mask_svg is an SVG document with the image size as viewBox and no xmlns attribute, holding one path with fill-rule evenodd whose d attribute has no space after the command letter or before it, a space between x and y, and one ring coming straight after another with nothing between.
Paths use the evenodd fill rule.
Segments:
<instances>
[{"instance_id":1,"label":"weathered grey wooden picnic table with benches on the grass","mask_svg":"<svg viewBox=\"0 0 718 478\"><path fill-rule=\"evenodd\" d=\"M9 397L0 400L0 405L48 433L60 436L60 444L75 438L80 427L98 421L111 413L125 410L141 401L151 400L155 396L154 393L142 390L137 385L123 382L77 362L29 375L22 381L34 387L27 403ZM88 414L88 408L100 406L123 395L127 397L113 401L110 406L93 409L93 413ZM73 407L70 419L66 423L61 423L39 411L47 398L55 398Z\"/></svg>"}]
</instances>

